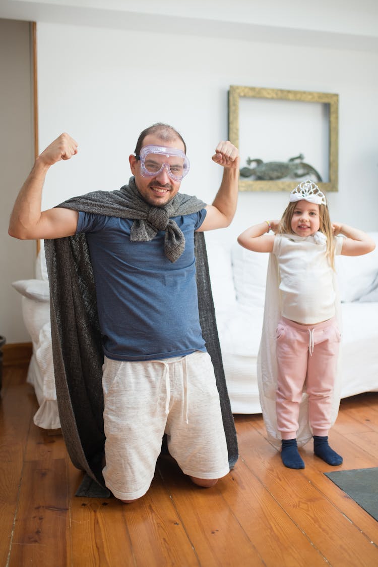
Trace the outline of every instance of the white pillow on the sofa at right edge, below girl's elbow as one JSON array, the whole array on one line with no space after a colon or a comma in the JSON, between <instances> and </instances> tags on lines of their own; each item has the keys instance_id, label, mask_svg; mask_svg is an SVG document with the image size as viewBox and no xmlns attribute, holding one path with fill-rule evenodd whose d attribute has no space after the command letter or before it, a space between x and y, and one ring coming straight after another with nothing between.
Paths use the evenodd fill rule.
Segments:
<instances>
[{"instance_id":1,"label":"white pillow on the sofa at right edge, below girl's elbow","mask_svg":"<svg viewBox=\"0 0 378 567\"><path fill-rule=\"evenodd\" d=\"M378 232L368 233L377 242ZM373 284L378 272L378 246L363 256L336 256L335 267L342 302L358 301Z\"/></svg>"}]
</instances>

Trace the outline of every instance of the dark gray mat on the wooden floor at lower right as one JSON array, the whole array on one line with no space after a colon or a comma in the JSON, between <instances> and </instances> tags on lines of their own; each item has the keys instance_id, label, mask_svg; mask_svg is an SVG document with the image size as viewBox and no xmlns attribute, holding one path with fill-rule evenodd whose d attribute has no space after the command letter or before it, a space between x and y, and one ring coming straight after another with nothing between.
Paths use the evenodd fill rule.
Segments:
<instances>
[{"instance_id":1,"label":"dark gray mat on the wooden floor at lower right","mask_svg":"<svg viewBox=\"0 0 378 567\"><path fill-rule=\"evenodd\" d=\"M378 522L378 467L324 474Z\"/></svg>"}]
</instances>

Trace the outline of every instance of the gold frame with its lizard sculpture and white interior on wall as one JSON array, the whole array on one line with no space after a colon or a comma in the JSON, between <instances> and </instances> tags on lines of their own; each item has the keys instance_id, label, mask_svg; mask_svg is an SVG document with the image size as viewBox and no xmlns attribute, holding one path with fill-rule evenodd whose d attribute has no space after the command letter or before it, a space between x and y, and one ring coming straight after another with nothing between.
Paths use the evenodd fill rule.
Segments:
<instances>
[{"instance_id":1,"label":"gold frame with its lizard sculpture and white interior on wall","mask_svg":"<svg viewBox=\"0 0 378 567\"><path fill-rule=\"evenodd\" d=\"M230 86L229 140L239 191L291 191L311 179L338 191L338 95Z\"/></svg>"}]
</instances>

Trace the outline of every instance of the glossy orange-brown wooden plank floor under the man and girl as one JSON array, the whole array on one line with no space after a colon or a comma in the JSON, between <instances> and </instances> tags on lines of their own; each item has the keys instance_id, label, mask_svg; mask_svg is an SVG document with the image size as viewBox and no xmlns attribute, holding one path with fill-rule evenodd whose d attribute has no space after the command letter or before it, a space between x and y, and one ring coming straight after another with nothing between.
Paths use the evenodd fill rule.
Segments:
<instances>
[{"instance_id":1,"label":"glossy orange-brown wooden plank floor under the man and girl","mask_svg":"<svg viewBox=\"0 0 378 567\"><path fill-rule=\"evenodd\" d=\"M161 458L147 495L124 505L75 497L83 473L63 438L33 424L26 367L6 367L0 411L0 567L378 565L378 522L312 454L293 471L265 440L261 416L235 416L240 458L212 489ZM330 433L337 469L378 466L378 393L343 400Z\"/></svg>"}]
</instances>

